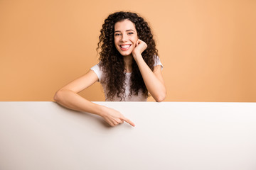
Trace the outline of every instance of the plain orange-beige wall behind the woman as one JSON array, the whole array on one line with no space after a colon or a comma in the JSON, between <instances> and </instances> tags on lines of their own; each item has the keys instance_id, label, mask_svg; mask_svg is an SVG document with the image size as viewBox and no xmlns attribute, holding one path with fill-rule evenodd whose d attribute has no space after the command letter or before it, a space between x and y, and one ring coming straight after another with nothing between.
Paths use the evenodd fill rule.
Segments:
<instances>
[{"instance_id":1,"label":"plain orange-beige wall behind the woman","mask_svg":"<svg viewBox=\"0 0 256 170\"><path fill-rule=\"evenodd\" d=\"M0 101L53 101L97 64L100 28L114 11L149 21L166 101L256 101L253 0L0 0ZM80 94L104 101L98 83Z\"/></svg>"}]
</instances>

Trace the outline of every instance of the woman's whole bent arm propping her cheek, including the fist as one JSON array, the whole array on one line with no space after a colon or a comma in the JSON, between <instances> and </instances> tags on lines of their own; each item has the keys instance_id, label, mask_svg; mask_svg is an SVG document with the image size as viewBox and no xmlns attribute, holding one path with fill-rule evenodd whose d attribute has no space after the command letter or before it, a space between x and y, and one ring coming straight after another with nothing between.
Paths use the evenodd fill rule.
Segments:
<instances>
[{"instance_id":1,"label":"woman's whole bent arm propping her cheek, including the fist","mask_svg":"<svg viewBox=\"0 0 256 170\"><path fill-rule=\"evenodd\" d=\"M137 47L134 48L132 56L137 62L139 71L141 72L144 83L146 84L146 89L148 89L151 96L157 102L164 101L164 98L166 97L166 87L164 85L163 75L161 74L161 66L157 65L154 67L154 71L151 71L142 58L142 52L146 50L146 47L147 45L145 42L138 40Z\"/></svg>"}]
</instances>

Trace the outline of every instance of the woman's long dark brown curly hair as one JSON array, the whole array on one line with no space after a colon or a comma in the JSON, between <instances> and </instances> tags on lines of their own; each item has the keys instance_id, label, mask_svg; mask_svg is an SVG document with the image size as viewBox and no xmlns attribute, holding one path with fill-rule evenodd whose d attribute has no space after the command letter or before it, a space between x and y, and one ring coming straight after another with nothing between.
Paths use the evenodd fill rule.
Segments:
<instances>
[{"instance_id":1,"label":"woman's long dark brown curly hair","mask_svg":"<svg viewBox=\"0 0 256 170\"><path fill-rule=\"evenodd\" d=\"M100 42L97 44L97 50L101 50L99 66L102 67L103 72L105 73L103 83L107 84L106 98L109 98L110 100L112 100L115 95L120 98L120 101L125 98L124 82L126 69L124 69L124 58L114 46L114 24L119 21L124 21L125 19L128 19L135 24L139 39L146 42L147 48L142 52L142 57L152 71L154 69L156 56L158 56L158 50L156 49L156 43L151 33L151 29L149 28L149 24L144 21L144 18L137 13L124 11L110 14L102 25L99 36ZM129 96L138 95L139 90L142 90L142 94L144 94L145 98L149 97L148 90L142 79L142 74L134 59L132 60L132 74L130 81L131 86Z\"/></svg>"}]
</instances>

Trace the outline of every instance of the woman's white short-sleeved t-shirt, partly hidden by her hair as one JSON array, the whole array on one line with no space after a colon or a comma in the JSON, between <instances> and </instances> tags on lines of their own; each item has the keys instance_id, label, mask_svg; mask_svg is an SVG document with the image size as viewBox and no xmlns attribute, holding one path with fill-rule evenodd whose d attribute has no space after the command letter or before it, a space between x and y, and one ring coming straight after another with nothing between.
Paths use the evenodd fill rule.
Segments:
<instances>
[{"instance_id":1,"label":"woman's white short-sleeved t-shirt, partly hidden by her hair","mask_svg":"<svg viewBox=\"0 0 256 170\"><path fill-rule=\"evenodd\" d=\"M157 65L161 65L161 69L163 69L163 64L161 64L161 61L159 60L159 57L156 57L156 61L155 61L154 66L157 66ZM110 101L110 99L107 98L107 84L102 83L102 77L104 77L104 72L100 68L99 64L96 64L91 69L92 69L92 71L94 71L97 74L97 77L99 78L99 82L100 82L100 84L102 84L102 87L103 87L103 90L104 90L104 93L105 93L105 101ZM144 96L144 94L142 94L141 90L139 91L138 96L136 96L136 95L129 96L129 89L130 89L130 86L131 86L130 85L131 84L131 81L130 81L131 74L132 73L126 73L125 74L125 84L127 84L127 85L125 86L124 101L147 101L147 98ZM116 96L114 96L114 98L111 101L120 101L120 99L121 98L117 97L117 95L116 95Z\"/></svg>"}]
</instances>

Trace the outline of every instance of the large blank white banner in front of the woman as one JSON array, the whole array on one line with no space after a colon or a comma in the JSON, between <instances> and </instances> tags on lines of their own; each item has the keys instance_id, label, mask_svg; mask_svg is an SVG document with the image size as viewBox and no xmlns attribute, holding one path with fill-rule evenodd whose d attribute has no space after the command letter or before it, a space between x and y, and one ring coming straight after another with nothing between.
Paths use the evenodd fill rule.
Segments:
<instances>
[{"instance_id":1,"label":"large blank white banner in front of the woman","mask_svg":"<svg viewBox=\"0 0 256 170\"><path fill-rule=\"evenodd\" d=\"M0 169L256 169L256 103L94 103L136 126L55 102L0 102Z\"/></svg>"}]
</instances>

